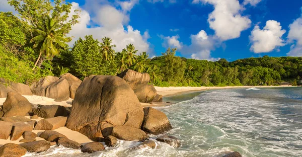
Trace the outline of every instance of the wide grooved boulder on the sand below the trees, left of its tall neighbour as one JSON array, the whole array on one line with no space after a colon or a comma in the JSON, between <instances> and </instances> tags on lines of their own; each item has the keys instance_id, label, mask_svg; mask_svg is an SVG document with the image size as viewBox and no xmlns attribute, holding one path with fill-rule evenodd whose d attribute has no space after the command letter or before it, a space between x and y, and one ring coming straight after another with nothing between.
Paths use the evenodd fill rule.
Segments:
<instances>
[{"instance_id":1,"label":"wide grooved boulder on the sand below the trees, left of its tall neighbour","mask_svg":"<svg viewBox=\"0 0 302 157\"><path fill-rule=\"evenodd\" d=\"M54 101L65 101L69 99L69 84L66 79L54 76L46 76L31 86L33 94L54 99Z\"/></svg>"}]
</instances>

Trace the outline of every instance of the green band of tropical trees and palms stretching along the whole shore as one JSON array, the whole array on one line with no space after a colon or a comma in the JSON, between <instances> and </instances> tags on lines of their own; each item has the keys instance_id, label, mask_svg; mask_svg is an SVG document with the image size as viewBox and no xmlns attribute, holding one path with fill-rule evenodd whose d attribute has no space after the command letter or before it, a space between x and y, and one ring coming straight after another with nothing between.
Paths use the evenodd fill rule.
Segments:
<instances>
[{"instance_id":1,"label":"green band of tropical trees and palms stretching along the whole shore","mask_svg":"<svg viewBox=\"0 0 302 157\"><path fill-rule=\"evenodd\" d=\"M112 39L92 35L79 38L72 47L68 33L79 23L71 4L61 0L9 0L18 12L0 12L0 78L30 84L46 75L66 72L84 79L92 74L117 75L125 69L147 72L155 86L257 86L300 84L302 57L246 58L233 62L187 59L169 48L149 58L129 43L120 52Z\"/></svg>"}]
</instances>

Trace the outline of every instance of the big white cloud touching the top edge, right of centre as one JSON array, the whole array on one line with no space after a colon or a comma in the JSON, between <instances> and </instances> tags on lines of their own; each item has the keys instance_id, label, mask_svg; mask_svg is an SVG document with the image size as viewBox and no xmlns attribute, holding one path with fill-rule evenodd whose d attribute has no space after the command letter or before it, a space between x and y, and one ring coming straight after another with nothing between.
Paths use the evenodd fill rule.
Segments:
<instances>
[{"instance_id":1,"label":"big white cloud touching the top edge, right of centre","mask_svg":"<svg viewBox=\"0 0 302 157\"><path fill-rule=\"evenodd\" d=\"M251 20L247 16L241 16L240 11L244 8L238 0L194 0L192 3L200 2L214 6L208 23L222 41L240 37L241 32L251 26Z\"/></svg>"}]
</instances>

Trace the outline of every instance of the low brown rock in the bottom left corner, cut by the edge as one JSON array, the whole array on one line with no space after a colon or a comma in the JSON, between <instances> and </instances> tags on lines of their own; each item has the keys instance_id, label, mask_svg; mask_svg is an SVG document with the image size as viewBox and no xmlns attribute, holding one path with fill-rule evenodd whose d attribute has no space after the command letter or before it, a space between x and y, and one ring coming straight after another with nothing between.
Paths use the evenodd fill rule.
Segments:
<instances>
[{"instance_id":1,"label":"low brown rock in the bottom left corner, cut by the edge","mask_svg":"<svg viewBox=\"0 0 302 157\"><path fill-rule=\"evenodd\" d=\"M20 157L25 155L26 149L19 144L7 143L0 147L1 157Z\"/></svg>"}]
</instances>

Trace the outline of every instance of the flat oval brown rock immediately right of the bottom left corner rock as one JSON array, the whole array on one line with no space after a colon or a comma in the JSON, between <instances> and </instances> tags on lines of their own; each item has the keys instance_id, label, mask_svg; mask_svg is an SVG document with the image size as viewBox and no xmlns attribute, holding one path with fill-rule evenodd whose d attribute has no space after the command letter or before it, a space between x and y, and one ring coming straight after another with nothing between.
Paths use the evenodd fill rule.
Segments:
<instances>
[{"instance_id":1,"label":"flat oval brown rock immediately right of the bottom left corner rock","mask_svg":"<svg viewBox=\"0 0 302 157\"><path fill-rule=\"evenodd\" d=\"M50 148L50 144L44 140L21 143L20 145L29 152L42 152Z\"/></svg>"}]
</instances>

